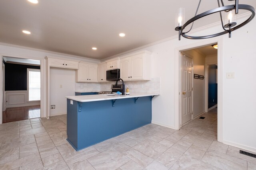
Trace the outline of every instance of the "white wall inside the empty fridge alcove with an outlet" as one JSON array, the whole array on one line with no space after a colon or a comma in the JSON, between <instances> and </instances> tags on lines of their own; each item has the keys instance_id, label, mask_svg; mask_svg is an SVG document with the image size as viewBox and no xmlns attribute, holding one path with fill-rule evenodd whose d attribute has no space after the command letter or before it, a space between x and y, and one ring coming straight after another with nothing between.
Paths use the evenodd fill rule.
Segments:
<instances>
[{"instance_id":1,"label":"white wall inside the empty fridge alcove with an outlet","mask_svg":"<svg viewBox=\"0 0 256 170\"><path fill-rule=\"evenodd\" d=\"M67 113L65 96L75 96L75 70L50 67L50 116Z\"/></svg>"}]
</instances>

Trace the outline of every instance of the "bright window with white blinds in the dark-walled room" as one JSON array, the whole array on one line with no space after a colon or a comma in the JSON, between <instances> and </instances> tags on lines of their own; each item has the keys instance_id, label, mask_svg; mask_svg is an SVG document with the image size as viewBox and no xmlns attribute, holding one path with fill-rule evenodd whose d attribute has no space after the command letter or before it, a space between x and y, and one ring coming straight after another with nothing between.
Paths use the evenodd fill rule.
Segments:
<instances>
[{"instance_id":1,"label":"bright window with white blinds in the dark-walled room","mask_svg":"<svg viewBox=\"0 0 256 170\"><path fill-rule=\"evenodd\" d=\"M27 68L28 72L28 101L40 100L41 78L39 69Z\"/></svg>"}]
</instances>

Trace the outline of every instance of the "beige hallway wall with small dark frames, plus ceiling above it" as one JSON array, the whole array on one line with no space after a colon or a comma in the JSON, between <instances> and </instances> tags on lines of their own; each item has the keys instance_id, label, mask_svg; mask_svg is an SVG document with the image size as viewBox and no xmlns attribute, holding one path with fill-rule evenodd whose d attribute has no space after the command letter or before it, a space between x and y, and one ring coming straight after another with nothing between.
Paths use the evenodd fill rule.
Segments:
<instances>
[{"instance_id":1,"label":"beige hallway wall with small dark frames, plus ceiling above it","mask_svg":"<svg viewBox=\"0 0 256 170\"><path fill-rule=\"evenodd\" d=\"M205 112L205 79L195 79L194 74L204 75L205 56L202 53L192 49L182 51L188 57L193 59L193 119Z\"/></svg>"}]
</instances>

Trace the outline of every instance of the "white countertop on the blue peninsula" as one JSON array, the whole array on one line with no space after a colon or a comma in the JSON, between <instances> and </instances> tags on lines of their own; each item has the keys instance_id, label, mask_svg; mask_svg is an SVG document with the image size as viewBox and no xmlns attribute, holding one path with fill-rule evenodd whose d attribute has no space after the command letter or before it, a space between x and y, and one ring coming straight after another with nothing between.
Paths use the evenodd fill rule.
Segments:
<instances>
[{"instance_id":1,"label":"white countertop on the blue peninsula","mask_svg":"<svg viewBox=\"0 0 256 170\"><path fill-rule=\"evenodd\" d=\"M75 100L78 102L94 102L94 101L101 101L101 100L115 100L115 99L124 99L124 98L138 98L138 97L146 97L146 96L157 96L159 94L155 93L135 93L131 92L129 95L112 95L107 96L101 94L95 95L84 95L84 96L66 96L66 98L70 100Z\"/></svg>"}]
</instances>

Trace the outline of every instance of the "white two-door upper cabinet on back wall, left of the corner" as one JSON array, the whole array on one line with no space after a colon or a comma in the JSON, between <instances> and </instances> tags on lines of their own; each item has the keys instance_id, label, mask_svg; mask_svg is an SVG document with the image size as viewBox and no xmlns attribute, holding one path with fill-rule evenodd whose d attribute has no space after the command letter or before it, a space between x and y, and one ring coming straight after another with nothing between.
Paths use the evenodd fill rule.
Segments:
<instances>
[{"instance_id":1,"label":"white two-door upper cabinet on back wall, left of the corner","mask_svg":"<svg viewBox=\"0 0 256 170\"><path fill-rule=\"evenodd\" d=\"M79 63L76 70L76 82L97 82L98 66L96 64Z\"/></svg>"}]
</instances>

